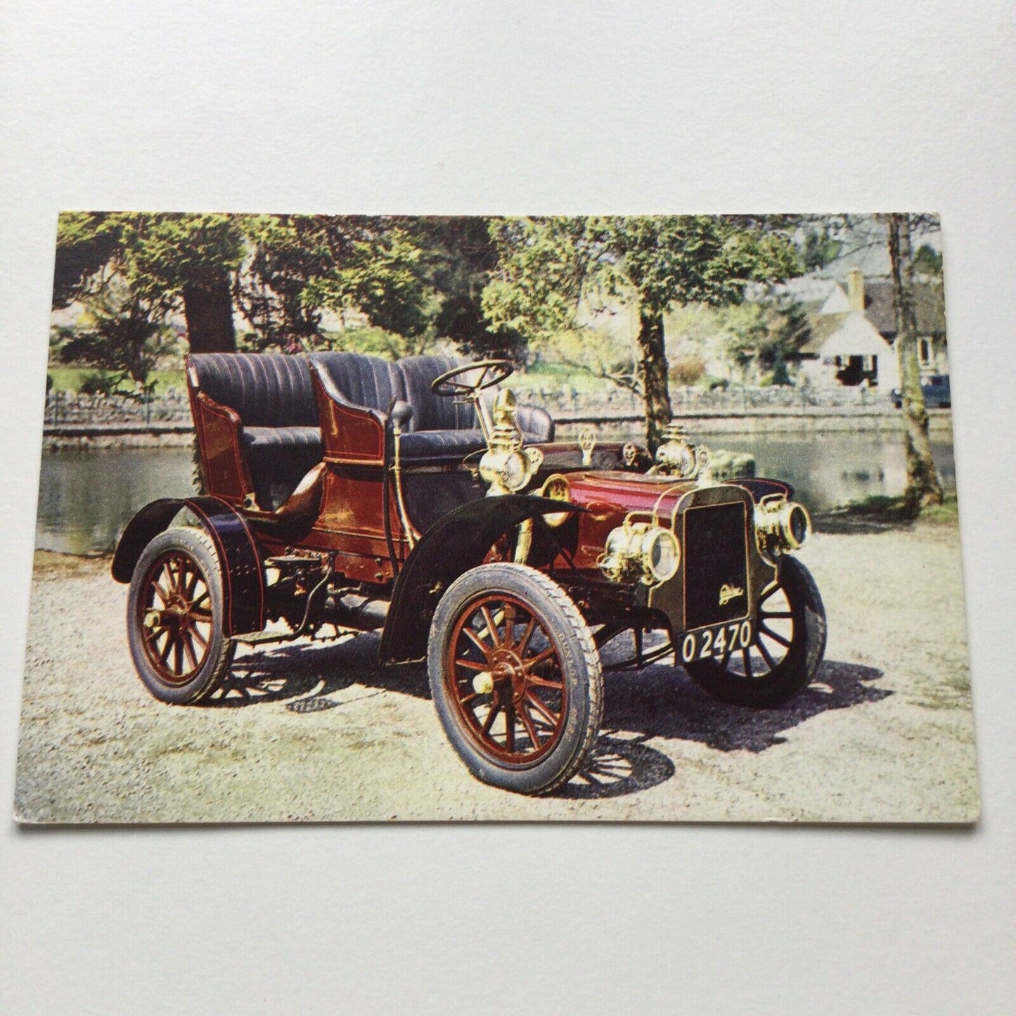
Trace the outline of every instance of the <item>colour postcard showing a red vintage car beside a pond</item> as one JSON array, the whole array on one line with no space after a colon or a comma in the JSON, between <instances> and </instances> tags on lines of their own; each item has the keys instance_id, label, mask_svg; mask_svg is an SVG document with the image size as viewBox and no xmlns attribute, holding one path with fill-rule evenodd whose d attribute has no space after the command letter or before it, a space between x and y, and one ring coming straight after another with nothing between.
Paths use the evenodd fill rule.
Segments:
<instances>
[{"instance_id":1,"label":"colour postcard showing a red vintage car beside a pond","mask_svg":"<svg viewBox=\"0 0 1016 1016\"><path fill-rule=\"evenodd\" d=\"M943 271L912 212L63 213L15 817L975 821Z\"/></svg>"}]
</instances>

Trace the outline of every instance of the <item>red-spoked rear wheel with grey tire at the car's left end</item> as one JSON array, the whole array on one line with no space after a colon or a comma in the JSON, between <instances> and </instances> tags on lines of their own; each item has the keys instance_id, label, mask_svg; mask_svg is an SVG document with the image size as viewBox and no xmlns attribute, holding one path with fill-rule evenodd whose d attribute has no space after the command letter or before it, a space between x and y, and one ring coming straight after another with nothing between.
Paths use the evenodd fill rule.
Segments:
<instances>
[{"instance_id":1,"label":"red-spoked rear wheel with grey tire at the car's left end","mask_svg":"<svg viewBox=\"0 0 1016 1016\"><path fill-rule=\"evenodd\" d=\"M197 702L221 685L235 652L223 609L218 555L204 532L169 529L148 544L127 595L127 637L138 677L155 698Z\"/></svg>"}]
</instances>

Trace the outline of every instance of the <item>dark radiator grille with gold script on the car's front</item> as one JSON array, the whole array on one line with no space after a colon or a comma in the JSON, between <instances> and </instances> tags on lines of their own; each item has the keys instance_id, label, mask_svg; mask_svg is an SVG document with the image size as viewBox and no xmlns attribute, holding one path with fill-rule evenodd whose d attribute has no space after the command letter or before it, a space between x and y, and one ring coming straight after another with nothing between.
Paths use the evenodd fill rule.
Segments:
<instances>
[{"instance_id":1,"label":"dark radiator grille with gold script on the car's front","mask_svg":"<svg viewBox=\"0 0 1016 1016\"><path fill-rule=\"evenodd\" d=\"M748 536L744 502L685 512L685 628L748 613Z\"/></svg>"}]
</instances>

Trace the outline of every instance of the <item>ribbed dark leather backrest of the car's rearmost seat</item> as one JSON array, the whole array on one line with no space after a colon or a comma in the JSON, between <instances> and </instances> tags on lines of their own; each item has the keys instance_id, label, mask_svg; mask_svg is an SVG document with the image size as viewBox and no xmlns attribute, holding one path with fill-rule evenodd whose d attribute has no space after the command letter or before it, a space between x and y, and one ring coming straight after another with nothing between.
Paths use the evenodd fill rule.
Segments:
<instances>
[{"instance_id":1,"label":"ribbed dark leather backrest of the car's rearmost seat","mask_svg":"<svg viewBox=\"0 0 1016 1016\"><path fill-rule=\"evenodd\" d=\"M317 427L311 373L304 357L280 353L195 353L200 389L240 414L245 427Z\"/></svg>"}]
</instances>

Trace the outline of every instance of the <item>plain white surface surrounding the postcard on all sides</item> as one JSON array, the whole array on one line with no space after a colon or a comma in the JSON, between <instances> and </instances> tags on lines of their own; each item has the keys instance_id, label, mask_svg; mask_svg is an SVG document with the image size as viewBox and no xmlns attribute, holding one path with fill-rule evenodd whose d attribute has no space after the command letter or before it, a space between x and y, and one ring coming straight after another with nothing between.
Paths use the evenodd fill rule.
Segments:
<instances>
[{"instance_id":1,"label":"plain white surface surrounding the postcard on all sides","mask_svg":"<svg viewBox=\"0 0 1016 1016\"><path fill-rule=\"evenodd\" d=\"M0 809L59 209L900 209L942 213L983 817L0 823L0 1010L1011 1011L1016 30L964 6L4 5Z\"/></svg>"}]
</instances>

